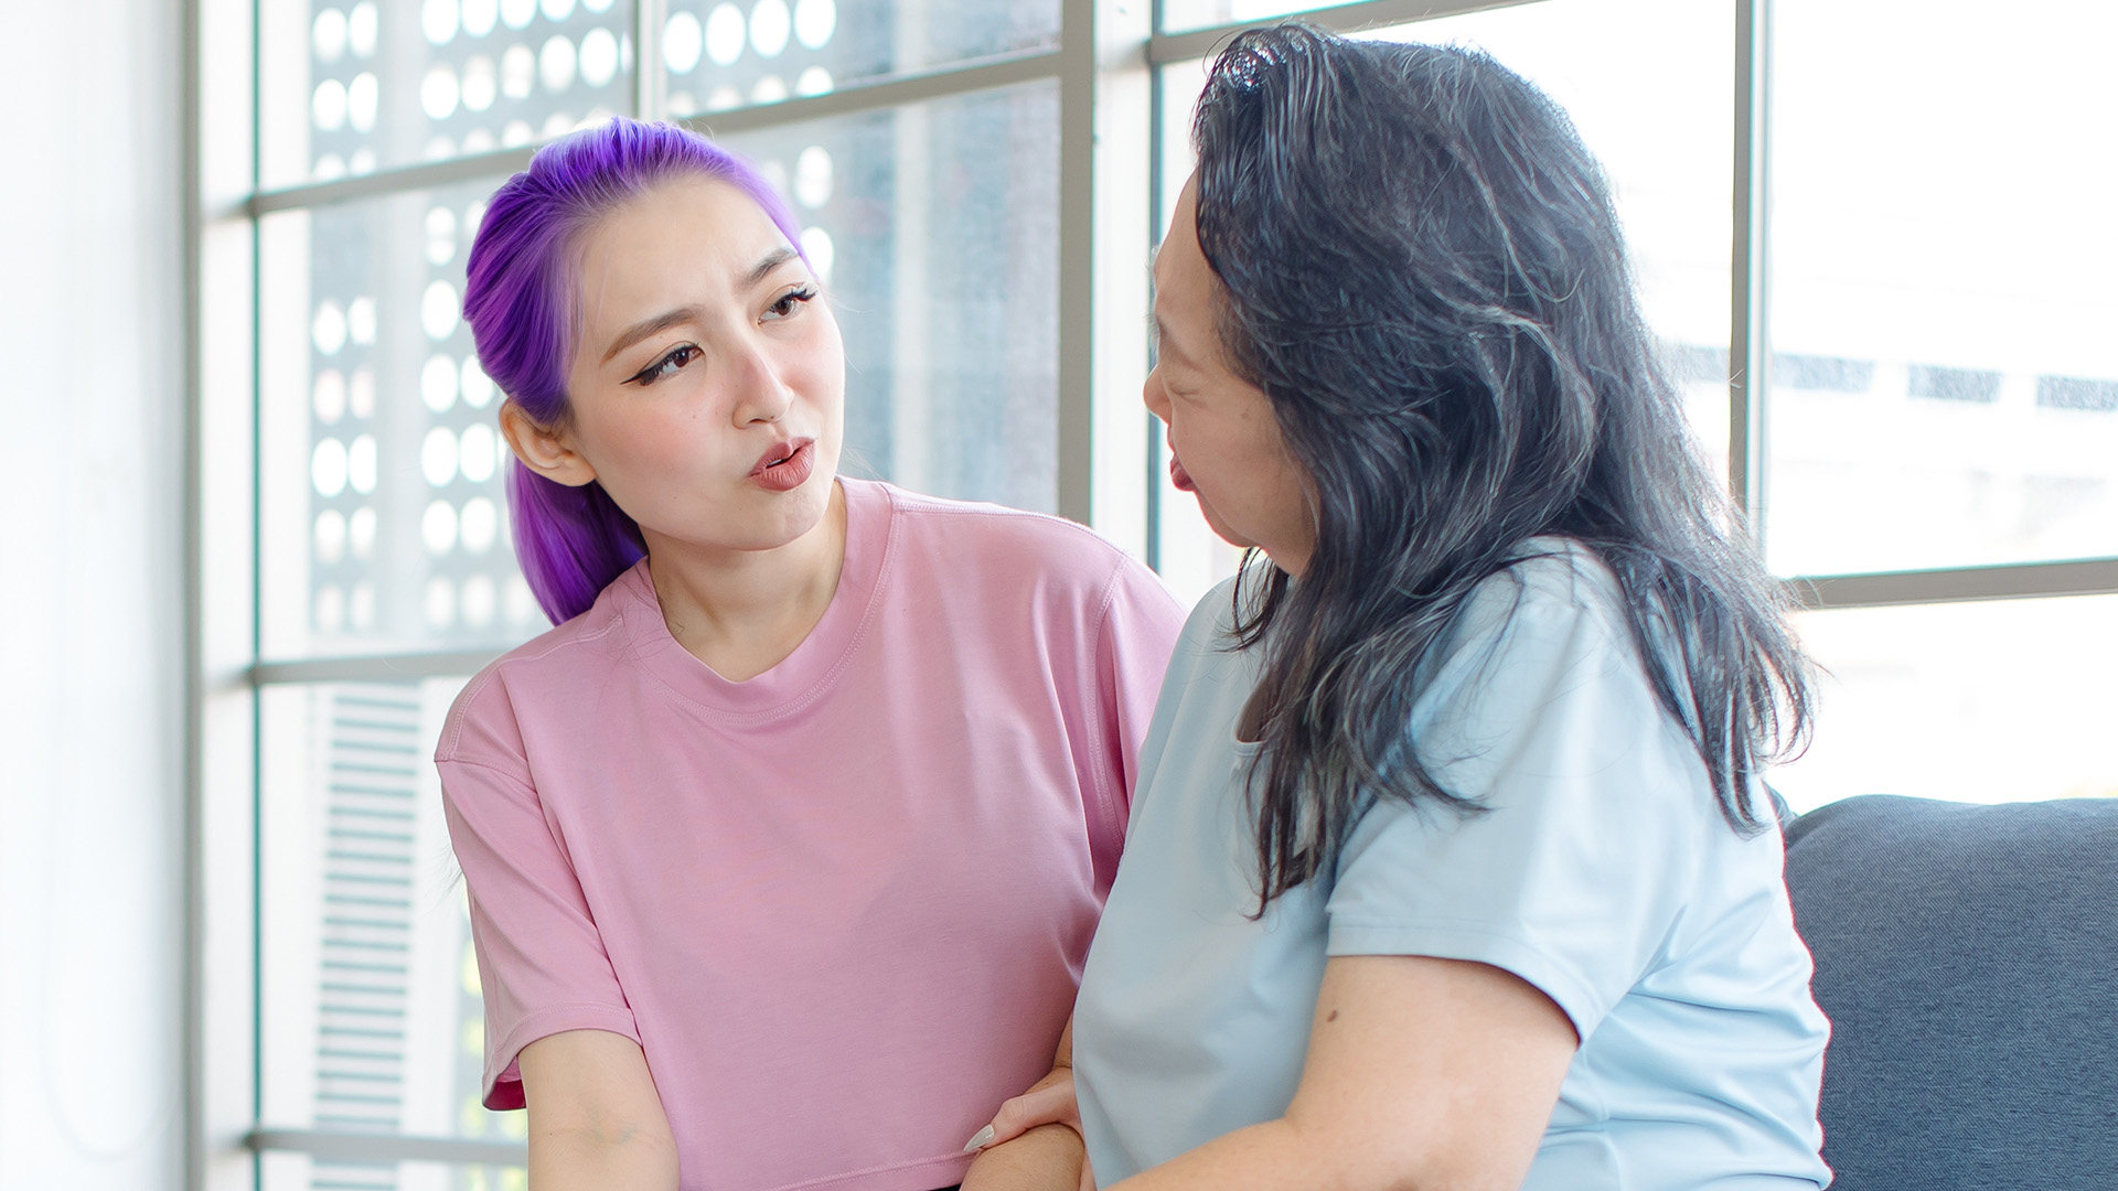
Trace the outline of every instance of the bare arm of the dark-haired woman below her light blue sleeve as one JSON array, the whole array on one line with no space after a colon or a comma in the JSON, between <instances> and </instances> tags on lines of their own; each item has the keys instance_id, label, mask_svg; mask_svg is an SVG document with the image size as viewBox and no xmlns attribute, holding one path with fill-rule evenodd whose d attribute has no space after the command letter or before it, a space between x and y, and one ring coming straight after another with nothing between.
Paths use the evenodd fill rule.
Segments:
<instances>
[{"instance_id":1,"label":"bare arm of the dark-haired woman below her light blue sleeve","mask_svg":"<svg viewBox=\"0 0 2118 1191\"><path fill-rule=\"evenodd\" d=\"M1341 956L1324 966L1288 1113L1118 1191L1512 1191L1574 1047L1565 1013L1500 968Z\"/></svg>"}]
</instances>

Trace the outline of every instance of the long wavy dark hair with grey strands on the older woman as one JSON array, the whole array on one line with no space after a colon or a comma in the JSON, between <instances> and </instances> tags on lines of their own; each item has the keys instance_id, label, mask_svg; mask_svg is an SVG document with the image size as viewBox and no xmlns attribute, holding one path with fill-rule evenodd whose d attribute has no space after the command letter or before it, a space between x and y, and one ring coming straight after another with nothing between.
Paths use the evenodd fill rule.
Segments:
<instances>
[{"instance_id":1,"label":"long wavy dark hair with grey strands on the older woman","mask_svg":"<svg viewBox=\"0 0 2118 1191\"><path fill-rule=\"evenodd\" d=\"M1807 737L1807 663L1633 295L1601 167L1493 59L1300 21L1237 36L1199 100L1199 244L1235 371L1313 490L1300 583L1245 557L1237 642L1262 894L1328 871L1377 797L1476 812L1406 737L1411 676L1527 538L1618 579L1663 708L1739 833Z\"/></svg>"}]
</instances>

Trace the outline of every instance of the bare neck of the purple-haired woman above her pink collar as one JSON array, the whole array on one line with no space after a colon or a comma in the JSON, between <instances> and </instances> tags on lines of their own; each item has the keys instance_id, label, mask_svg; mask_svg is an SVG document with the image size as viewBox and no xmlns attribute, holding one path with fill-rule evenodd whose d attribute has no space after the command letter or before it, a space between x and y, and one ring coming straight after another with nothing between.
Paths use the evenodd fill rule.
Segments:
<instances>
[{"instance_id":1,"label":"bare neck of the purple-haired woman above her pink collar","mask_svg":"<svg viewBox=\"0 0 2118 1191\"><path fill-rule=\"evenodd\" d=\"M648 579L669 636L731 682L756 678L809 638L843 566L845 490L837 483L818 523L784 547L703 549L648 534Z\"/></svg>"}]
</instances>

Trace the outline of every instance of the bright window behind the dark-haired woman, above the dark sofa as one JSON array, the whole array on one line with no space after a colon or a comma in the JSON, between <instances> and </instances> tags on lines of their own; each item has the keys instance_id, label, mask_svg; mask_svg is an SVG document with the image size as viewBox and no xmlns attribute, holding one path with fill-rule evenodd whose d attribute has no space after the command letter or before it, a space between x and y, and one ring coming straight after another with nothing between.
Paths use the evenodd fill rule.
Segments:
<instances>
[{"instance_id":1,"label":"bright window behind the dark-haired woman, above the dark sofa","mask_svg":"<svg viewBox=\"0 0 2118 1191\"><path fill-rule=\"evenodd\" d=\"M1165 0L1165 223L1218 23L1296 8ZM1311 17L1491 51L1608 167L1701 449L1735 451L1766 562L1807 608L1821 731L1775 776L1796 810L2118 793L2084 718L2107 712L2118 651L2095 596L2118 589L2118 229L2097 214L2118 176L2086 148L2112 97L2084 57L2114 17L1826 0ZM2002 83L1995 45L2040 66ZM1180 589L1233 570L1175 490L1156 509Z\"/></svg>"}]
</instances>

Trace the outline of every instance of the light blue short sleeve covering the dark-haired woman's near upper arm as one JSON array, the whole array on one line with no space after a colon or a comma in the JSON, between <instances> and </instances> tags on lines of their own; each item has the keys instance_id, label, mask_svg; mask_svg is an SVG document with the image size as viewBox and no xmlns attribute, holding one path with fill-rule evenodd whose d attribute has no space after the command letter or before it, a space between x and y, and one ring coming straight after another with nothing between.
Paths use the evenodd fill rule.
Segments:
<instances>
[{"instance_id":1,"label":"light blue short sleeve covering the dark-haired woman's near upper arm","mask_svg":"<svg viewBox=\"0 0 2118 1191\"><path fill-rule=\"evenodd\" d=\"M1430 774L1485 810L1370 807L1328 954L1493 964L1588 1038L1663 949L1718 812L1603 585L1512 579L1474 593L1411 723Z\"/></svg>"}]
</instances>

